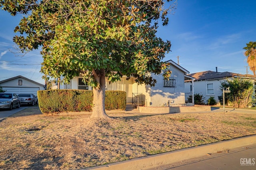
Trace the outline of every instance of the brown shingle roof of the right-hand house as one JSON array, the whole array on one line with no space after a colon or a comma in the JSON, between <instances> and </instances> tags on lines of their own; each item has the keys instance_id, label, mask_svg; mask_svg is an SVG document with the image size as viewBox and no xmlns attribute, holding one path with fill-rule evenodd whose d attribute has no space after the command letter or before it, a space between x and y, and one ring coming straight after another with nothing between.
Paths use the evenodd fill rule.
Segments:
<instances>
[{"instance_id":1,"label":"brown shingle roof of the right-hand house","mask_svg":"<svg viewBox=\"0 0 256 170\"><path fill-rule=\"evenodd\" d=\"M226 79L228 77L240 77L246 79L256 79L255 75L250 74L237 74L231 72L215 72L215 71L202 71L197 73L189 74L191 77L194 77L194 80L209 80L209 79Z\"/></svg>"}]
</instances>

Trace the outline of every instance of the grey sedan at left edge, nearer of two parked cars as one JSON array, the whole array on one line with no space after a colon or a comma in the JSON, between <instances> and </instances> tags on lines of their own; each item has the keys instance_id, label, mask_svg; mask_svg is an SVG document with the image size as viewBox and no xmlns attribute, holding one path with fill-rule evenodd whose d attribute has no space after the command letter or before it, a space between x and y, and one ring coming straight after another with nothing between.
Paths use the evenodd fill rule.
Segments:
<instances>
[{"instance_id":1,"label":"grey sedan at left edge, nearer of two parked cars","mask_svg":"<svg viewBox=\"0 0 256 170\"><path fill-rule=\"evenodd\" d=\"M0 109L20 107L20 98L15 93L0 93Z\"/></svg>"}]
</instances>

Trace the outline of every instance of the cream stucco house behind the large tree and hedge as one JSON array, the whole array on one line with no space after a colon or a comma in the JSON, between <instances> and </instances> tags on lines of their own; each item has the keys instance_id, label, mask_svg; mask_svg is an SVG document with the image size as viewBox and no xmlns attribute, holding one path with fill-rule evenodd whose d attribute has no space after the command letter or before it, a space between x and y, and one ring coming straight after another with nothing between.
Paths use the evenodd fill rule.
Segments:
<instances>
[{"instance_id":1,"label":"cream stucco house behind the large tree and hedge","mask_svg":"<svg viewBox=\"0 0 256 170\"><path fill-rule=\"evenodd\" d=\"M126 103L135 105L146 107L182 106L185 104L184 80L190 80L193 77L188 76L189 72L174 61L166 62L170 63L172 71L169 80L164 80L162 75L153 74L152 77L157 80L157 83L154 87L150 87L145 84L138 85L134 78L126 80L125 76L114 83L106 78L106 90L126 91ZM82 82L81 75L74 77L70 84L61 84L60 89L92 90L92 87Z\"/></svg>"}]
</instances>

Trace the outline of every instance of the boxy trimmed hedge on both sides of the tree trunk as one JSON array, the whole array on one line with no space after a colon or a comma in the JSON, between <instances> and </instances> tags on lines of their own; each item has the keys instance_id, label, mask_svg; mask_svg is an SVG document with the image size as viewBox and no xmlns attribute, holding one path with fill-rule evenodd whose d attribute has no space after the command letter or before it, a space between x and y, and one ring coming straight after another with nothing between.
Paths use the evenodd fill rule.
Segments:
<instances>
[{"instance_id":1,"label":"boxy trimmed hedge on both sides of the tree trunk","mask_svg":"<svg viewBox=\"0 0 256 170\"><path fill-rule=\"evenodd\" d=\"M39 108L43 114L92 111L93 92L91 90L41 90L38 91L37 96ZM125 91L106 91L106 110L124 110L125 108Z\"/></svg>"}]
</instances>

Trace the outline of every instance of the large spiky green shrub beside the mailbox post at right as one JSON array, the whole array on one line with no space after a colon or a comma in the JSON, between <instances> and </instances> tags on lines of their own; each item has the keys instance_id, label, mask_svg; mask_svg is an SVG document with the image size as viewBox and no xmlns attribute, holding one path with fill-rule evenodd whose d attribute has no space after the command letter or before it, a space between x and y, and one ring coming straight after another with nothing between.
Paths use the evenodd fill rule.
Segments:
<instances>
[{"instance_id":1,"label":"large spiky green shrub beside the mailbox post at right","mask_svg":"<svg viewBox=\"0 0 256 170\"><path fill-rule=\"evenodd\" d=\"M250 80L235 78L225 80L220 84L220 90L230 87L230 93L225 93L225 98L234 107L245 108L255 102L254 83Z\"/></svg>"}]
</instances>

